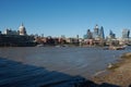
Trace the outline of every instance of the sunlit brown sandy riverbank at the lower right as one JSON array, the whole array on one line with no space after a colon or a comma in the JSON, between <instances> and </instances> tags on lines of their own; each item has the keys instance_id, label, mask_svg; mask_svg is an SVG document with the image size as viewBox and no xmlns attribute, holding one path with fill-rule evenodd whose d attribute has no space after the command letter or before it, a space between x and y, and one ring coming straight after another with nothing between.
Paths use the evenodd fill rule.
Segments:
<instances>
[{"instance_id":1,"label":"sunlit brown sandy riverbank at the lower right","mask_svg":"<svg viewBox=\"0 0 131 87\"><path fill-rule=\"evenodd\" d=\"M93 80L97 84L109 83L120 87L131 86L131 52L124 53L121 60L112 64L107 71L109 71L108 74L94 76Z\"/></svg>"}]
</instances>

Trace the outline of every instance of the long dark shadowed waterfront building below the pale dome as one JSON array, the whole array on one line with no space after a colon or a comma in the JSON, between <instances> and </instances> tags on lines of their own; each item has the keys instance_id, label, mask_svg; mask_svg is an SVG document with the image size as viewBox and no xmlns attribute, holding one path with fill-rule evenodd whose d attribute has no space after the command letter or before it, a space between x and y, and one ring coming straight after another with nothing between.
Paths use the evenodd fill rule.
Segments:
<instances>
[{"instance_id":1,"label":"long dark shadowed waterfront building below the pale dome","mask_svg":"<svg viewBox=\"0 0 131 87\"><path fill-rule=\"evenodd\" d=\"M32 47L34 37L20 35L0 35L0 47Z\"/></svg>"}]
</instances>

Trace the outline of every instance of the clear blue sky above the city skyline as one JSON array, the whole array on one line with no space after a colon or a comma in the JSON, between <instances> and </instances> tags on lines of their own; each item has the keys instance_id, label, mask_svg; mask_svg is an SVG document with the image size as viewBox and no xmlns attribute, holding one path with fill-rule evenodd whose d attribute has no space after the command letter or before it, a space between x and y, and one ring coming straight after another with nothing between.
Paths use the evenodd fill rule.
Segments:
<instances>
[{"instance_id":1,"label":"clear blue sky above the city skyline","mask_svg":"<svg viewBox=\"0 0 131 87\"><path fill-rule=\"evenodd\" d=\"M24 24L27 34L83 37L97 24L105 36L111 29L117 37L131 30L131 0L0 0L0 30L17 30Z\"/></svg>"}]
</instances>

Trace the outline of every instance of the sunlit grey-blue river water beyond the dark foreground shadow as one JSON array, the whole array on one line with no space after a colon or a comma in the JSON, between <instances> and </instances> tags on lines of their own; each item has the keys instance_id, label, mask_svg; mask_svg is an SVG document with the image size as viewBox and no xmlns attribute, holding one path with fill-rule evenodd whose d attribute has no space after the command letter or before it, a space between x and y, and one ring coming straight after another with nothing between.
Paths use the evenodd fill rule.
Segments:
<instances>
[{"instance_id":1,"label":"sunlit grey-blue river water beyond the dark foreground shadow","mask_svg":"<svg viewBox=\"0 0 131 87\"><path fill-rule=\"evenodd\" d=\"M86 78L104 71L108 63L116 62L122 53L130 51L130 48L103 50L80 47L10 47L0 48L0 58Z\"/></svg>"}]
</instances>

